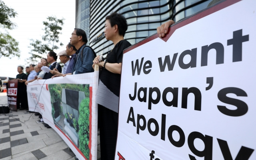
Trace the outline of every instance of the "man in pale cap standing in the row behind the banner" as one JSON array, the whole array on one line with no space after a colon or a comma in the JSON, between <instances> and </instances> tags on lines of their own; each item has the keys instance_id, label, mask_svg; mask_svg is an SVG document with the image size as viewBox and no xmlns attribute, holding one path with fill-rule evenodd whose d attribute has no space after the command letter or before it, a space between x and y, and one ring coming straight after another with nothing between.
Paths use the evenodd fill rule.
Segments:
<instances>
[{"instance_id":1,"label":"man in pale cap standing in the row behind the banner","mask_svg":"<svg viewBox=\"0 0 256 160\"><path fill-rule=\"evenodd\" d=\"M58 72L58 70L56 68L54 68L53 70L50 70L50 72L52 74L66 74L66 70L70 61L70 57L67 55L66 50L60 51L60 53L58 53L56 56L59 56L60 62L62 62L64 64L64 67L62 69L62 72Z\"/></svg>"}]
</instances>

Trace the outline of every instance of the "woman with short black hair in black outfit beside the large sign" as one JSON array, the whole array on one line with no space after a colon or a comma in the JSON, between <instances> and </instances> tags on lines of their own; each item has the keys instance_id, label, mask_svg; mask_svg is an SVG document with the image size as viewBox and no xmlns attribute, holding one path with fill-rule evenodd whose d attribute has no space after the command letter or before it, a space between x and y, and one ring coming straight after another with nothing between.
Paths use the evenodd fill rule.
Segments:
<instances>
[{"instance_id":1,"label":"woman with short black hair in black outfit beside the large sign","mask_svg":"<svg viewBox=\"0 0 256 160\"><path fill-rule=\"evenodd\" d=\"M107 40L114 43L114 48L108 53L105 61L99 61L97 56L92 65L94 68L94 65L98 64L102 69L96 97L102 160L113 160L115 156L123 50L131 46L124 40L127 28L126 19L121 14L112 13L106 17L104 34Z\"/></svg>"}]
</instances>

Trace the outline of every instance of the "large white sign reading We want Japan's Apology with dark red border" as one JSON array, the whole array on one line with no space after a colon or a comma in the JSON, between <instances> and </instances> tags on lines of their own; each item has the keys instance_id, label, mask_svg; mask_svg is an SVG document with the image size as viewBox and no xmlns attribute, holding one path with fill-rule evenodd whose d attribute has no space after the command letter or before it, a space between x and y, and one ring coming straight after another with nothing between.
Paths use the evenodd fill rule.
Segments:
<instances>
[{"instance_id":1,"label":"large white sign reading We want Japan's Apology with dark red border","mask_svg":"<svg viewBox=\"0 0 256 160\"><path fill-rule=\"evenodd\" d=\"M226 0L126 49L115 160L255 160L255 51L255 0Z\"/></svg>"}]
</instances>

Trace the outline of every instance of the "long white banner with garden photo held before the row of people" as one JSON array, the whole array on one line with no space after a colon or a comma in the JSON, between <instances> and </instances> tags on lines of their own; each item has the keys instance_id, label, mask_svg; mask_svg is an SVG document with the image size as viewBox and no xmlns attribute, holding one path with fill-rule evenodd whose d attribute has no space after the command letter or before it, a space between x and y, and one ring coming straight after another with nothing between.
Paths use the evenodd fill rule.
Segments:
<instances>
[{"instance_id":1,"label":"long white banner with garden photo held before the row of people","mask_svg":"<svg viewBox=\"0 0 256 160\"><path fill-rule=\"evenodd\" d=\"M30 111L42 115L79 160L97 160L99 71L28 83Z\"/></svg>"}]
</instances>

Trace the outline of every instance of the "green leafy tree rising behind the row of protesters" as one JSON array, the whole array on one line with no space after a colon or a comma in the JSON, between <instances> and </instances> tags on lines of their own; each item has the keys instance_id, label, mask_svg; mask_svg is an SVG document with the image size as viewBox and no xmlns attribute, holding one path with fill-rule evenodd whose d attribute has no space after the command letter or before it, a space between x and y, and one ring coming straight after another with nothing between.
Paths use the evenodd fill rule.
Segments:
<instances>
[{"instance_id":1,"label":"green leafy tree rising behind the row of protesters","mask_svg":"<svg viewBox=\"0 0 256 160\"><path fill-rule=\"evenodd\" d=\"M43 57L45 58L49 51L59 48L57 45L63 46L63 43L59 41L59 35L61 34L60 31L62 30L65 19L57 19L54 16L49 16L46 19L47 21L43 21L45 35L42 36L42 41L30 39L31 57L29 60L32 62L37 62L38 59Z\"/></svg>"}]
</instances>

